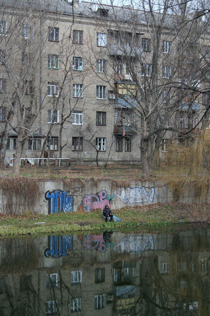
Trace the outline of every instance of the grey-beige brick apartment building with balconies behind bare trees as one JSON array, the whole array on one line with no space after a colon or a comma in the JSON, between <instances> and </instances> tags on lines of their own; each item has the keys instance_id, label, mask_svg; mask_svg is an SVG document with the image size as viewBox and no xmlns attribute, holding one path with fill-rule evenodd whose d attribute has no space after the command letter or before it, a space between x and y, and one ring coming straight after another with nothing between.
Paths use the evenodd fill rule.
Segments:
<instances>
[{"instance_id":1,"label":"grey-beige brick apartment building with balconies behind bare trees","mask_svg":"<svg viewBox=\"0 0 210 316\"><path fill-rule=\"evenodd\" d=\"M174 15L164 17L157 40L150 17L129 6L63 0L28 11L8 2L1 10L0 132L7 160L22 145L28 159L138 163L141 151L158 147L163 154L168 139L204 122L209 128L207 27L193 51L177 36ZM161 18L155 17L160 25Z\"/></svg>"}]
</instances>

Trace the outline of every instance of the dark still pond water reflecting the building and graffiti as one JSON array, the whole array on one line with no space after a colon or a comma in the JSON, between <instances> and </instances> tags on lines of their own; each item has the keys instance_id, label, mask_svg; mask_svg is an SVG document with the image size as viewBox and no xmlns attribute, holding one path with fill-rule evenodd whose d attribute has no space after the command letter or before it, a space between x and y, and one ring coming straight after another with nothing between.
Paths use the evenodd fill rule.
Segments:
<instances>
[{"instance_id":1,"label":"dark still pond water reflecting the building and graffiti","mask_svg":"<svg viewBox=\"0 0 210 316\"><path fill-rule=\"evenodd\" d=\"M0 315L210 315L210 229L0 241Z\"/></svg>"}]
</instances>

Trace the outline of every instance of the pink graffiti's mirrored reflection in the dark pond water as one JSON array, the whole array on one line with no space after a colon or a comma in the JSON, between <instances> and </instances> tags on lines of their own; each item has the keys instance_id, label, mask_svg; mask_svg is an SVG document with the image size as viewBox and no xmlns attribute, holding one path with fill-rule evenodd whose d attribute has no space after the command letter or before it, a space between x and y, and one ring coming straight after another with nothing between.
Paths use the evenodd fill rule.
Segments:
<instances>
[{"instance_id":1,"label":"pink graffiti's mirrored reflection in the dark pond water","mask_svg":"<svg viewBox=\"0 0 210 316\"><path fill-rule=\"evenodd\" d=\"M103 234L100 235L94 235L94 234L88 234L84 235L82 246L86 249L96 249L100 252L106 251L106 244L103 240Z\"/></svg>"}]
</instances>

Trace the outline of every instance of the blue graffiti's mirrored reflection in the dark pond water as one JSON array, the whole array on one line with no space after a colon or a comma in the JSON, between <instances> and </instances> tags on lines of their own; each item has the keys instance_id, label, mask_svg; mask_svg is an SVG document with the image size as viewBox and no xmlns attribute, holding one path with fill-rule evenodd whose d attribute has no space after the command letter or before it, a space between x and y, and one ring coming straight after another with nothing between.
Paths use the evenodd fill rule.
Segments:
<instances>
[{"instance_id":1,"label":"blue graffiti's mirrored reflection in the dark pond water","mask_svg":"<svg viewBox=\"0 0 210 316\"><path fill-rule=\"evenodd\" d=\"M72 250L72 236L71 235L50 235L48 236L48 248L45 249L44 255L54 258L60 258L61 256L68 256L67 251Z\"/></svg>"}]
</instances>

